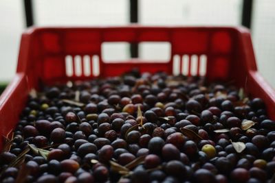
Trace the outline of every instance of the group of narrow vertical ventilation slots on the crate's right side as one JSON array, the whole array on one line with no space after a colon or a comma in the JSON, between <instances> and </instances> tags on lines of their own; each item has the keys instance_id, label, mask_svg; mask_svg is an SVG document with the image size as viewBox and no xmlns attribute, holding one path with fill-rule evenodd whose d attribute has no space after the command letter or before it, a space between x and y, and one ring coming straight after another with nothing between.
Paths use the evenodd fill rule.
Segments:
<instances>
[{"instance_id":1,"label":"group of narrow vertical ventilation slots on the crate's right side","mask_svg":"<svg viewBox=\"0 0 275 183\"><path fill-rule=\"evenodd\" d=\"M206 55L174 55L173 74L174 75L206 75Z\"/></svg>"}]
</instances>

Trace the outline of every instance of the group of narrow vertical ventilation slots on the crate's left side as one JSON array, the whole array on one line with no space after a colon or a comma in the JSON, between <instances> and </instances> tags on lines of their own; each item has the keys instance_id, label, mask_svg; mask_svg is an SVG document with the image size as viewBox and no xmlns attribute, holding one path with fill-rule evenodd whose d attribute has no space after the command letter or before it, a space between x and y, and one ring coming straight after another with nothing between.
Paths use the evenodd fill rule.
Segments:
<instances>
[{"instance_id":1,"label":"group of narrow vertical ventilation slots on the crate's left side","mask_svg":"<svg viewBox=\"0 0 275 183\"><path fill-rule=\"evenodd\" d=\"M68 77L89 77L98 76L99 71L99 57L94 56L65 56L66 75Z\"/></svg>"}]
</instances>

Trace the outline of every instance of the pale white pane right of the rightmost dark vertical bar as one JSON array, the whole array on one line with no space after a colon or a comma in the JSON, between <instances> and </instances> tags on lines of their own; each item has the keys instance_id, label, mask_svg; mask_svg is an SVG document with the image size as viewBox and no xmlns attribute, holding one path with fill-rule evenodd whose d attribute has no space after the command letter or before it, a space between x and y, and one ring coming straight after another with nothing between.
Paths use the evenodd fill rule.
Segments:
<instances>
[{"instance_id":1,"label":"pale white pane right of the rightmost dark vertical bar","mask_svg":"<svg viewBox=\"0 0 275 183\"><path fill-rule=\"evenodd\" d=\"M275 1L254 1L252 38L258 69L275 88Z\"/></svg>"}]
</instances>

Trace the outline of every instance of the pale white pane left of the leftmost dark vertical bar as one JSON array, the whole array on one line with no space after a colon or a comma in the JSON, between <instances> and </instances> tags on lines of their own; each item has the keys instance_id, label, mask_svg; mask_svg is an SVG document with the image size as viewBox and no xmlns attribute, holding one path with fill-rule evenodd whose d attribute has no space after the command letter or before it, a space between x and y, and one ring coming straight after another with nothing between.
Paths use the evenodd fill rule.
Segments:
<instances>
[{"instance_id":1,"label":"pale white pane left of the leftmost dark vertical bar","mask_svg":"<svg viewBox=\"0 0 275 183\"><path fill-rule=\"evenodd\" d=\"M9 81L15 73L20 35L25 21L23 1L0 1L0 82Z\"/></svg>"}]
</instances>

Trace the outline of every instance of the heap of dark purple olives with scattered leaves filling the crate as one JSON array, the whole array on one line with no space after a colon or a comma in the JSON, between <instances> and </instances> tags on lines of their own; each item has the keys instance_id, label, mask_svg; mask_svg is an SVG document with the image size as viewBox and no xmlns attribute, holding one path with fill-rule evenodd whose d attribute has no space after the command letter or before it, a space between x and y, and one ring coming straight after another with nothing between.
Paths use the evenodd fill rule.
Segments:
<instances>
[{"instance_id":1,"label":"heap of dark purple olives with scattered leaves filling the crate","mask_svg":"<svg viewBox=\"0 0 275 183\"><path fill-rule=\"evenodd\" d=\"M0 153L0 182L17 180L24 165L9 166L25 151L25 182L268 182L274 174L275 123L262 99L236 86L133 69L38 94ZM246 130L245 121L253 121Z\"/></svg>"}]
</instances>

